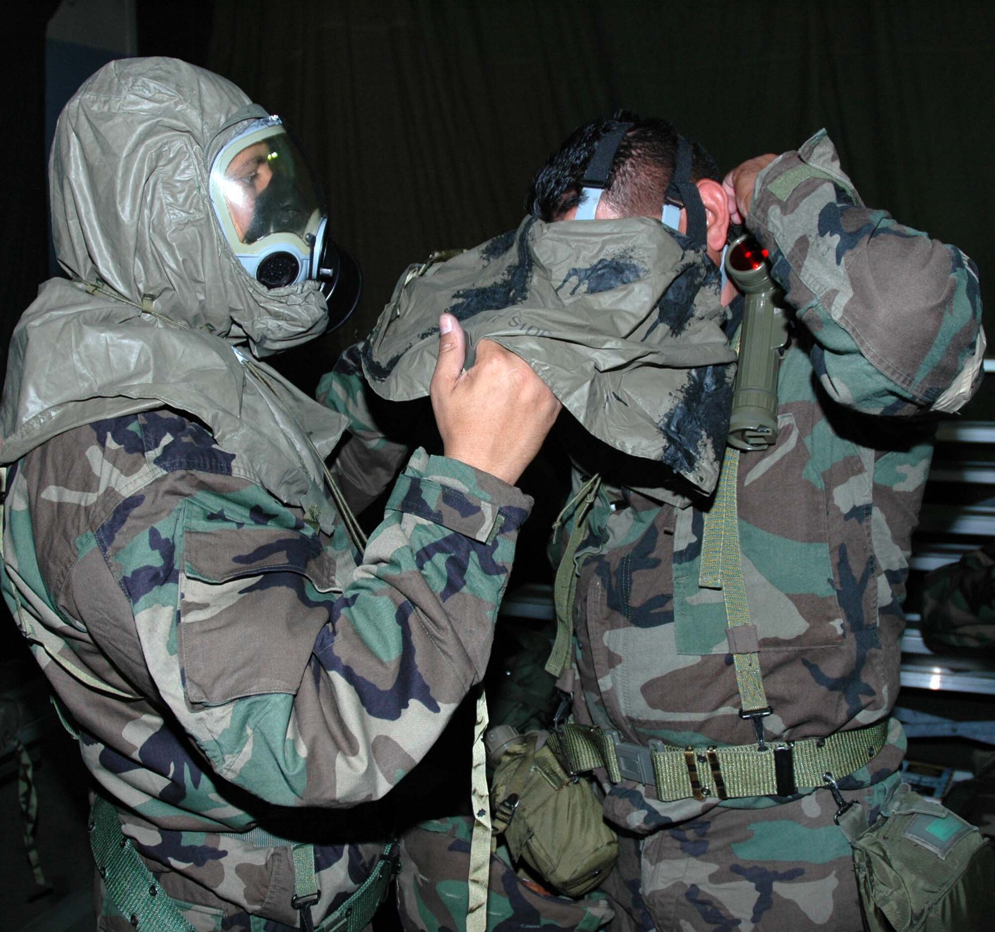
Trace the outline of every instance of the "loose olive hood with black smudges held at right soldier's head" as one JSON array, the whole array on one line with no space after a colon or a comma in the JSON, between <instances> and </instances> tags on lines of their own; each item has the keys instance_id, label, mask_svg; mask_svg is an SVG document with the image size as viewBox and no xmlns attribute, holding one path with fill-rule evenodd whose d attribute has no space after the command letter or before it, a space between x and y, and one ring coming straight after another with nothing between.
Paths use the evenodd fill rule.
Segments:
<instances>
[{"instance_id":1,"label":"loose olive hood with black smudges held at right soldier's head","mask_svg":"<svg viewBox=\"0 0 995 932\"><path fill-rule=\"evenodd\" d=\"M412 267L364 350L378 394L428 394L443 312L471 346L487 338L521 356L598 439L714 488L736 356L718 269L685 237L646 217L527 217L448 262Z\"/></svg>"}]
</instances>

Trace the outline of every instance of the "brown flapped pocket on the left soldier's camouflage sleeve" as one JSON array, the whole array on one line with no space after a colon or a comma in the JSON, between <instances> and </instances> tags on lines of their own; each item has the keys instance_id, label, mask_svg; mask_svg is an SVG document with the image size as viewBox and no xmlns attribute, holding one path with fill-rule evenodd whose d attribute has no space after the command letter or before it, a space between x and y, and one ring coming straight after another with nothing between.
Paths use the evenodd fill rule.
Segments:
<instances>
[{"instance_id":1,"label":"brown flapped pocket on the left soldier's camouflage sleeve","mask_svg":"<svg viewBox=\"0 0 995 932\"><path fill-rule=\"evenodd\" d=\"M179 650L187 699L221 705L296 694L334 600L334 562L316 535L271 525L185 522Z\"/></svg>"}]
</instances>

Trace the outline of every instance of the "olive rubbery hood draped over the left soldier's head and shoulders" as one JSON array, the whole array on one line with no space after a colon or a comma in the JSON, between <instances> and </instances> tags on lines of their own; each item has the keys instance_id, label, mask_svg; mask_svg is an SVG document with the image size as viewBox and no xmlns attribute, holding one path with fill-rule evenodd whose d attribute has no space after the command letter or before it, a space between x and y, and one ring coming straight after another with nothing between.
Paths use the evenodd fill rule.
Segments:
<instances>
[{"instance_id":1,"label":"olive rubbery hood draped over the left soldier's head and shoulders","mask_svg":"<svg viewBox=\"0 0 995 932\"><path fill-rule=\"evenodd\" d=\"M0 461L72 427L168 405L248 453L283 501L323 502L321 458L344 422L247 350L320 334L324 298L312 281L268 290L250 276L209 194L214 155L263 116L225 79L164 58L111 62L70 100L49 183L71 281L43 285L15 330Z\"/></svg>"}]
</instances>

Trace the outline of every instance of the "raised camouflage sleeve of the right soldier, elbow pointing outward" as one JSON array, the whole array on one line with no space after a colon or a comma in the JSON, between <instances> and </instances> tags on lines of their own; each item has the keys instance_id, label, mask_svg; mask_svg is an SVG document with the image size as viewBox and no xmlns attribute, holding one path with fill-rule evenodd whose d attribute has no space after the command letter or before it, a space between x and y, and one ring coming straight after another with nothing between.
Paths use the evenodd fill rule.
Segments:
<instances>
[{"instance_id":1,"label":"raised camouflage sleeve of the right soldier, elbow pointing outward","mask_svg":"<svg viewBox=\"0 0 995 932\"><path fill-rule=\"evenodd\" d=\"M825 130L760 173L747 224L832 397L896 414L955 411L973 394L985 349L974 264L865 207Z\"/></svg>"}]
</instances>

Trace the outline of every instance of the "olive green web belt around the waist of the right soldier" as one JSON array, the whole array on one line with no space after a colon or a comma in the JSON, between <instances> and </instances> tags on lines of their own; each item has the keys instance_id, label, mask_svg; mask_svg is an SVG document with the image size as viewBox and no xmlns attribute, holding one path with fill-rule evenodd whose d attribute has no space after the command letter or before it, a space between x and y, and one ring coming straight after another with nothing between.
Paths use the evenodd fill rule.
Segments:
<instances>
[{"instance_id":1,"label":"olive green web belt around the waist of the right soldier","mask_svg":"<svg viewBox=\"0 0 995 932\"><path fill-rule=\"evenodd\" d=\"M888 719L825 738L685 748L651 741L649 747L619 740L617 732L563 725L549 735L553 752L571 775L603 767L612 783L632 780L656 787L663 803L677 800L794 796L839 780L875 758L888 740Z\"/></svg>"}]
</instances>

